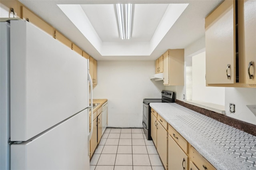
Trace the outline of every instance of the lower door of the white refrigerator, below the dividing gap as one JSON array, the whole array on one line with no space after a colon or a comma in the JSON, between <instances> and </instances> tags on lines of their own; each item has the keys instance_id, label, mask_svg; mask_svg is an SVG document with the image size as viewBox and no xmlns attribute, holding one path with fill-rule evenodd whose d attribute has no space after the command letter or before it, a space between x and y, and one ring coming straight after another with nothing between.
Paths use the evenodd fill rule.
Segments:
<instances>
[{"instance_id":1,"label":"lower door of the white refrigerator, below the dividing gap","mask_svg":"<svg viewBox=\"0 0 256 170\"><path fill-rule=\"evenodd\" d=\"M88 109L21 144L11 145L12 170L89 170Z\"/></svg>"}]
</instances>

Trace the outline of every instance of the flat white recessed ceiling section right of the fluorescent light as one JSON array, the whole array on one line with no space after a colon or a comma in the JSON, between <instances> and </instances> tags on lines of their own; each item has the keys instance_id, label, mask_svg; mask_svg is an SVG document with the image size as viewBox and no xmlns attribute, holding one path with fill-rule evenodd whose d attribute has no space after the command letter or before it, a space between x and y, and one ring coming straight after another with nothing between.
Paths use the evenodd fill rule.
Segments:
<instances>
[{"instance_id":1,"label":"flat white recessed ceiling section right of the fluorescent light","mask_svg":"<svg viewBox=\"0 0 256 170\"><path fill-rule=\"evenodd\" d=\"M168 4L135 4L132 40L149 42L156 31Z\"/></svg>"}]
</instances>

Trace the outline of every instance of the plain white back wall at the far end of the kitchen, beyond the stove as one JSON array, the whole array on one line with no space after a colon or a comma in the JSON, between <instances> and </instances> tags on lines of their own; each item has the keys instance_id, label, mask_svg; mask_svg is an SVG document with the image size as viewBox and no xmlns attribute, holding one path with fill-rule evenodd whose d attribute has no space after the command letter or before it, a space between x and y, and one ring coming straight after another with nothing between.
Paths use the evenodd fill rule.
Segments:
<instances>
[{"instance_id":1,"label":"plain white back wall at the far end of the kitchen, beyond the stove","mask_svg":"<svg viewBox=\"0 0 256 170\"><path fill-rule=\"evenodd\" d=\"M142 127L145 98L161 98L162 81L151 81L155 61L98 61L94 99L108 99L108 127Z\"/></svg>"}]
</instances>

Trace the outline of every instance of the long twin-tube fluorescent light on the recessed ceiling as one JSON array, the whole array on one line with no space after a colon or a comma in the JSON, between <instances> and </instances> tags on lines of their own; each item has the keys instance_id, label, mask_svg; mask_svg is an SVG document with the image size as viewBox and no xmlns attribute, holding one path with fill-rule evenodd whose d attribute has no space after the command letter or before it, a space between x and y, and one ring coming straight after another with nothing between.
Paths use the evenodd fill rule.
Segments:
<instances>
[{"instance_id":1,"label":"long twin-tube fluorescent light on the recessed ceiling","mask_svg":"<svg viewBox=\"0 0 256 170\"><path fill-rule=\"evenodd\" d=\"M116 4L120 37L122 40L131 38L132 4Z\"/></svg>"}]
</instances>

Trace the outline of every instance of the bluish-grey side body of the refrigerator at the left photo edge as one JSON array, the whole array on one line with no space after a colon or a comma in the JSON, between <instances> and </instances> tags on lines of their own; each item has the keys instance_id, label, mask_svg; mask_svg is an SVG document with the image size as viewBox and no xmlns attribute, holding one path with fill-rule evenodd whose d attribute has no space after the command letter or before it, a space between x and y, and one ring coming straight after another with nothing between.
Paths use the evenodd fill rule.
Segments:
<instances>
[{"instance_id":1,"label":"bluish-grey side body of the refrigerator at the left photo edge","mask_svg":"<svg viewBox=\"0 0 256 170\"><path fill-rule=\"evenodd\" d=\"M0 22L0 170L10 169L10 24Z\"/></svg>"}]
</instances>

